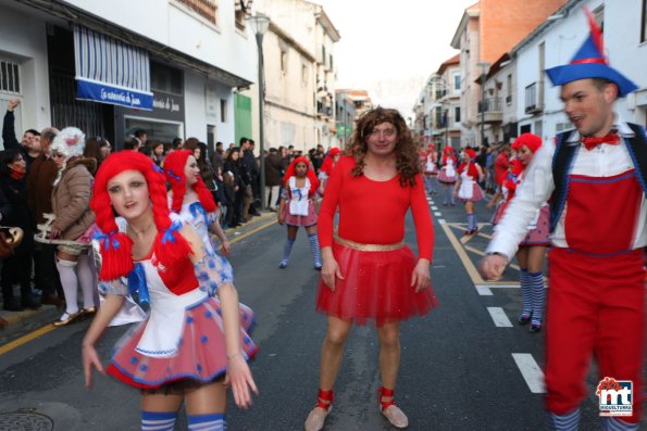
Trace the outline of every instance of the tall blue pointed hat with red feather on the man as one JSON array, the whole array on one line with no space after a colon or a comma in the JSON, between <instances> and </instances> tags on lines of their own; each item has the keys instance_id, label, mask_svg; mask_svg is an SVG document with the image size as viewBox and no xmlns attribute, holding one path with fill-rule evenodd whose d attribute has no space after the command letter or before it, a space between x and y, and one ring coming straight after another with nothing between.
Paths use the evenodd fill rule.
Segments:
<instances>
[{"instance_id":1,"label":"tall blue pointed hat with red feather on the man","mask_svg":"<svg viewBox=\"0 0 647 431\"><path fill-rule=\"evenodd\" d=\"M555 86L563 86L586 78L607 79L618 86L618 97L623 98L636 90L638 86L609 65L609 59L605 55L605 42L600 27L598 27L590 11L586 7L583 9L590 26L588 38L571 60L571 63L548 68L546 74Z\"/></svg>"}]
</instances>

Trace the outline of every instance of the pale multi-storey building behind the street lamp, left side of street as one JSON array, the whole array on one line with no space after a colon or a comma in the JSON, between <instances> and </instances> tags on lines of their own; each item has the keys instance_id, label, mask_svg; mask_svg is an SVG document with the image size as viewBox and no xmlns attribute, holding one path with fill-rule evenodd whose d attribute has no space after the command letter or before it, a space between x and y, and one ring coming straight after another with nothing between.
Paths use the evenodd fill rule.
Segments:
<instances>
[{"instance_id":1,"label":"pale multi-storey building behind the street lamp, left side of street","mask_svg":"<svg viewBox=\"0 0 647 431\"><path fill-rule=\"evenodd\" d=\"M265 148L295 145L307 152L338 144L335 126L334 45L339 33L319 4L259 0L267 15L263 38Z\"/></svg>"}]
</instances>

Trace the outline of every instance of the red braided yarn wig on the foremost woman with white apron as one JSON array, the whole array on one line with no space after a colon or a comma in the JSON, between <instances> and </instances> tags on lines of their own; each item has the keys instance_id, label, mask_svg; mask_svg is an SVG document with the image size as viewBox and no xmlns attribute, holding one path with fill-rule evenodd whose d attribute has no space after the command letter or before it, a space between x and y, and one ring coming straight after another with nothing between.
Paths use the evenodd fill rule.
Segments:
<instances>
[{"instance_id":1,"label":"red braided yarn wig on the foremost woman with white apron","mask_svg":"<svg viewBox=\"0 0 647 431\"><path fill-rule=\"evenodd\" d=\"M191 253L188 242L177 233L179 225L171 225L166 182L161 169L146 155L137 151L121 151L109 155L97 172L90 208L101 229L100 280L114 280L126 276L133 269L133 240L120 232L108 193L108 181L126 170L137 170L146 178L152 202L152 213L158 234L153 242L155 258L165 267L186 259Z\"/></svg>"}]
</instances>

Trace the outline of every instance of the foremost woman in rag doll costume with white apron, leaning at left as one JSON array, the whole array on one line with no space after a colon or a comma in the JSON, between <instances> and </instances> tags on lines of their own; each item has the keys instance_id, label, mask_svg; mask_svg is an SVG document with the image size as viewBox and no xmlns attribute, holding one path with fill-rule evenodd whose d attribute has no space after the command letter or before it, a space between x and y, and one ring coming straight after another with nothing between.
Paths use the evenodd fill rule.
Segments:
<instances>
[{"instance_id":1,"label":"foremost woman in rag doll costume with white apron, leaning at left","mask_svg":"<svg viewBox=\"0 0 647 431\"><path fill-rule=\"evenodd\" d=\"M247 334L253 315L239 307L231 271L194 228L172 224L166 203L164 175L149 157L122 151L101 164L90 207L103 232L107 300L83 341L86 385L92 368L103 372L95 343L137 290L149 318L124 337L107 372L141 390L141 429L173 430L185 403L189 430L224 430L227 385L242 408L258 392L247 364L257 352Z\"/></svg>"}]
</instances>

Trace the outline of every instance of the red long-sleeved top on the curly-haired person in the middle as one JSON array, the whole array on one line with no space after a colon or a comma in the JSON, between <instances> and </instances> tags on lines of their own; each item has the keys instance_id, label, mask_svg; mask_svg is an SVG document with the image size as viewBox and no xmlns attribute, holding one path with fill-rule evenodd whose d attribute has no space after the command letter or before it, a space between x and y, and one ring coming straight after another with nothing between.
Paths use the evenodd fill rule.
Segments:
<instances>
[{"instance_id":1,"label":"red long-sleeved top on the curly-haired person in the middle","mask_svg":"<svg viewBox=\"0 0 647 431\"><path fill-rule=\"evenodd\" d=\"M339 237L362 244L395 244L405 238L405 216L411 208L415 224L419 258L432 261L434 225L425 198L422 176L415 186L400 186L400 175L374 181L352 176L356 162L343 156L331 175L319 213L319 242L333 245L333 220L339 207Z\"/></svg>"}]
</instances>

